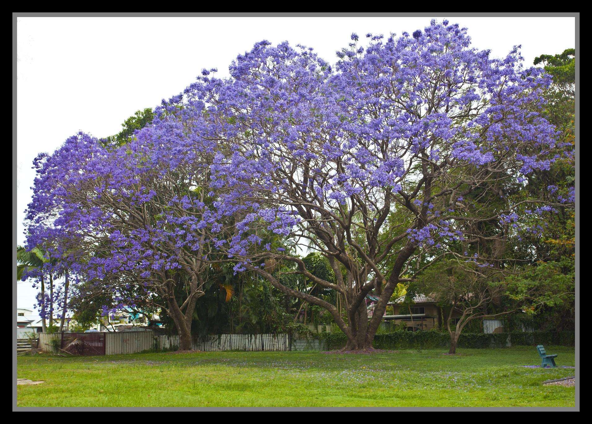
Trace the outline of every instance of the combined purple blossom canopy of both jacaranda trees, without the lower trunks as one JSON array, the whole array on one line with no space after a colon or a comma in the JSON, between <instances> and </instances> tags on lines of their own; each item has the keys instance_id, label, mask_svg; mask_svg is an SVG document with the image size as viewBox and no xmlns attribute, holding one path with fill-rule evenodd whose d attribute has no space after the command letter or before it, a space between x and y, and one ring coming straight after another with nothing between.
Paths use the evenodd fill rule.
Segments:
<instances>
[{"instance_id":1,"label":"combined purple blossom canopy of both jacaranda trees, without the lower trunks","mask_svg":"<svg viewBox=\"0 0 592 424\"><path fill-rule=\"evenodd\" d=\"M230 78L203 70L163 100L130 143L79 133L39 155L27 246L121 302L130 284L135 296L157 293L167 272L197 274L215 255L243 271L288 258L301 239L341 262L351 249L364 263L356 272L378 276L385 249L405 237L421 249L463 242L475 185L520 184L572 154L539 114L550 77L523 68L518 47L495 59L470 47L465 28L436 21L412 36L366 37L359 47L352 34L335 66L261 41ZM542 194L574 201L556 195ZM536 232L553 213L542 205L523 214L525 204L507 203L495 218L516 236ZM395 211L411 218L377 247ZM270 234L285 248L262 245Z\"/></svg>"}]
</instances>

